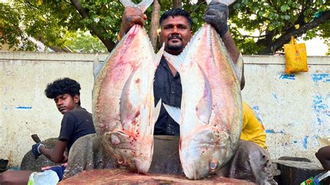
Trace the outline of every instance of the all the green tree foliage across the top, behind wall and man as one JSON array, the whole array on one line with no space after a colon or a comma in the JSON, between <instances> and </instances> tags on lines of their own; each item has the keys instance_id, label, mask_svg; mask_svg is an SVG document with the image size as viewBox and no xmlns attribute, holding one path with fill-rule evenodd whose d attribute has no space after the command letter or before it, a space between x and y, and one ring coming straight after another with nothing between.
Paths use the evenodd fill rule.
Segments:
<instances>
[{"instance_id":1,"label":"all the green tree foliage across the top, behind wall and man","mask_svg":"<svg viewBox=\"0 0 330 185\"><path fill-rule=\"evenodd\" d=\"M159 17L159 13L155 11L163 13L182 6L191 13L193 31L203 24L206 8L203 0L195 3L189 0L155 2L160 9L150 7L146 10L149 17L146 30L151 29L152 42L157 42L155 17ZM274 54L290 41L292 35L303 35L306 40L318 36L329 43L329 9L329 1L324 0L238 0L230 6L230 31L244 54ZM0 42L13 47L22 43L22 50L33 50L35 46L27 39L31 36L47 47L64 47L72 45L74 40L69 36L80 30L90 31L111 51L117 42L123 10L118 0L16 0L0 3L0 31L3 32Z\"/></svg>"}]
</instances>

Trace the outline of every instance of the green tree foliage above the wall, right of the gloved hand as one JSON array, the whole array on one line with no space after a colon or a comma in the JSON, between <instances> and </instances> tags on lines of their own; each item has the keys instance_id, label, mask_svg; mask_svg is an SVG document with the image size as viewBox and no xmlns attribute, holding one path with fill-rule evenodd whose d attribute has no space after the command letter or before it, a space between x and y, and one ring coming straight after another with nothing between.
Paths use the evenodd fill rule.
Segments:
<instances>
[{"instance_id":1,"label":"green tree foliage above the wall, right of the gloved hand","mask_svg":"<svg viewBox=\"0 0 330 185\"><path fill-rule=\"evenodd\" d=\"M233 9L231 30L246 54L274 54L292 35L329 38L329 1L239 0ZM254 31L258 34L252 36Z\"/></svg>"}]
</instances>

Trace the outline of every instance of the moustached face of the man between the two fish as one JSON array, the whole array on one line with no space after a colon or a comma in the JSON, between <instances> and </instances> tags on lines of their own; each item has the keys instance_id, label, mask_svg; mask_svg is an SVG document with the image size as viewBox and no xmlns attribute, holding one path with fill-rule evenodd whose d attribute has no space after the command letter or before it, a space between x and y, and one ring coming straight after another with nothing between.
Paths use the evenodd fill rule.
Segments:
<instances>
[{"instance_id":1,"label":"moustached face of the man between the two fish","mask_svg":"<svg viewBox=\"0 0 330 185\"><path fill-rule=\"evenodd\" d=\"M191 39L192 33L186 17L181 15L167 17L161 25L159 41L165 43L165 51L179 55Z\"/></svg>"}]
</instances>

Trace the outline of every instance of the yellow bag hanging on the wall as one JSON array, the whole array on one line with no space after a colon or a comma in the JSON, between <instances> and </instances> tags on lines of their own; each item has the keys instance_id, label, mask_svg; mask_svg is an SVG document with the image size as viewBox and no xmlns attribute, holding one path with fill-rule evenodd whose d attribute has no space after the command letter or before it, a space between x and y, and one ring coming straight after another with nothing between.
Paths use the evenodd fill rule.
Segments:
<instances>
[{"instance_id":1,"label":"yellow bag hanging on the wall","mask_svg":"<svg viewBox=\"0 0 330 185\"><path fill-rule=\"evenodd\" d=\"M297 44L292 36L290 44L284 45L284 52L286 74L292 72L308 72L305 43Z\"/></svg>"}]
</instances>

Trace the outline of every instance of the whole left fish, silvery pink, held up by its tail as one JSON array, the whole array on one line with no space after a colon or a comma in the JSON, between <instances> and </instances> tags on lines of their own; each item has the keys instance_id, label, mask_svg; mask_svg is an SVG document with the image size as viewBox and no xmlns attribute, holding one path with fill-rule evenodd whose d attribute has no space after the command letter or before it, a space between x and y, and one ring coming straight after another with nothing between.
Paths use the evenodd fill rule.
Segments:
<instances>
[{"instance_id":1,"label":"whole left fish, silvery pink, held up by its tail","mask_svg":"<svg viewBox=\"0 0 330 185\"><path fill-rule=\"evenodd\" d=\"M124 6L135 6L121 1ZM137 7L146 10L152 0ZM153 131L160 111L155 108L153 80L164 47L158 54L148 35L136 24L111 51L103 65L95 65L93 121L105 150L120 166L146 173L153 152Z\"/></svg>"}]
</instances>

